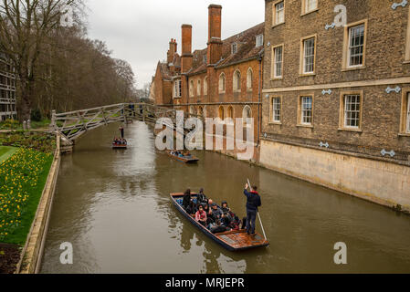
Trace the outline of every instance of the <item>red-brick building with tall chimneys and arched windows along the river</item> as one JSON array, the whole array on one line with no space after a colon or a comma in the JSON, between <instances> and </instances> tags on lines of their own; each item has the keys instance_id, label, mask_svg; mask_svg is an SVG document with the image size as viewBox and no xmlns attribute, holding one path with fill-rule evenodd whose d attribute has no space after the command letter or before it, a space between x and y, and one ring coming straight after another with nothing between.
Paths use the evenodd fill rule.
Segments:
<instances>
[{"instance_id":1,"label":"red-brick building with tall chimneys and arched windows along the river","mask_svg":"<svg viewBox=\"0 0 410 292\"><path fill-rule=\"evenodd\" d=\"M207 47L192 51L192 26L182 26L182 53L171 39L166 63L159 62L154 82L157 105L206 118L254 118L260 125L264 24L221 39L222 6L208 7Z\"/></svg>"}]
</instances>

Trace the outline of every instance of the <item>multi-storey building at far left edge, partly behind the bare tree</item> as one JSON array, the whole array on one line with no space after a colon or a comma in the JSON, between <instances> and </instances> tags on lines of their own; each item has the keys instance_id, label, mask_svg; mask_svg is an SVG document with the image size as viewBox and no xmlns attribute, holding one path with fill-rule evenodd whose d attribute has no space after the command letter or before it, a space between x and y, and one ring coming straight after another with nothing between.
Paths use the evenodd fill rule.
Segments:
<instances>
[{"instance_id":1,"label":"multi-storey building at far left edge, partly behind the bare tree","mask_svg":"<svg viewBox=\"0 0 410 292\"><path fill-rule=\"evenodd\" d=\"M0 53L0 121L16 118L16 75L7 57Z\"/></svg>"}]
</instances>

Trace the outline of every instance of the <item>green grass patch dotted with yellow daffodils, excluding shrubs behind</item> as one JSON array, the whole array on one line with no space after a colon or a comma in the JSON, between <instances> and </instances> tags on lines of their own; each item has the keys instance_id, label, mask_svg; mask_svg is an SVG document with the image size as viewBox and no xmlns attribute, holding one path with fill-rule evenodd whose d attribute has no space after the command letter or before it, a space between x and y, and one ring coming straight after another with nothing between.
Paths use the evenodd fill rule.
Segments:
<instances>
[{"instance_id":1,"label":"green grass patch dotted with yellow daffodils, excluding shrubs behind","mask_svg":"<svg viewBox=\"0 0 410 292\"><path fill-rule=\"evenodd\" d=\"M53 155L21 148L0 164L0 242L24 245Z\"/></svg>"}]
</instances>

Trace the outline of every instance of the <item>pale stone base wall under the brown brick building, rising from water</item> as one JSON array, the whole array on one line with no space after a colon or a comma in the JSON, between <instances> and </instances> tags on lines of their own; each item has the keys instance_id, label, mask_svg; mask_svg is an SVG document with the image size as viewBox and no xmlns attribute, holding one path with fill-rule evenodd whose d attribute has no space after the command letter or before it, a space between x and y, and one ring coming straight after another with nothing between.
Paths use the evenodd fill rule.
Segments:
<instances>
[{"instance_id":1,"label":"pale stone base wall under the brown brick building, rising from water","mask_svg":"<svg viewBox=\"0 0 410 292\"><path fill-rule=\"evenodd\" d=\"M260 142L258 164L410 213L410 166L405 164L268 140Z\"/></svg>"}]
</instances>

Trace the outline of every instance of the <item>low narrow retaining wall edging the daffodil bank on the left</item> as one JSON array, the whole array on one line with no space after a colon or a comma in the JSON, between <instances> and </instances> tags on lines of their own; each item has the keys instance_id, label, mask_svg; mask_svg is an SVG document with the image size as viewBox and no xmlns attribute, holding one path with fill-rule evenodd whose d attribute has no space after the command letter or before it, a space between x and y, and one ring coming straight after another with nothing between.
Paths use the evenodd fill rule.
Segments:
<instances>
[{"instance_id":1,"label":"low narrow retaining wall edging the daffodil bank on the left","mask_svg":"<svg viewBox=\"0 0 410 292\"><path fill-rule=\"evenodd\" d=\"M40 202L37 206L36 216L27 235L26 245L23 248L16 274L37 274L41 264L44 245L47 235L48 219L56 190L58 169L61 161L60 136L57 134L57 147L54 159L48 172L47 182L44 186Z\"/></svg>"}]
</instances>

